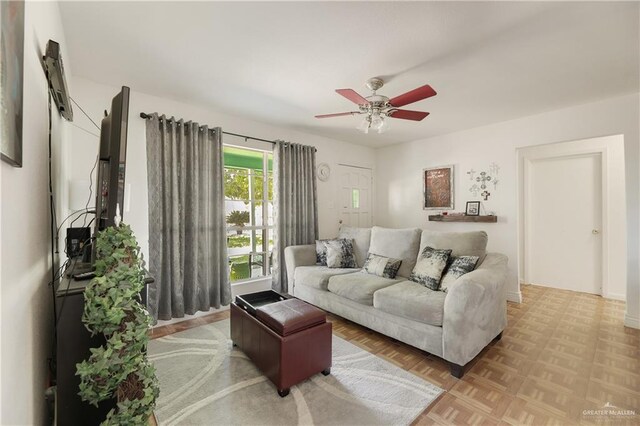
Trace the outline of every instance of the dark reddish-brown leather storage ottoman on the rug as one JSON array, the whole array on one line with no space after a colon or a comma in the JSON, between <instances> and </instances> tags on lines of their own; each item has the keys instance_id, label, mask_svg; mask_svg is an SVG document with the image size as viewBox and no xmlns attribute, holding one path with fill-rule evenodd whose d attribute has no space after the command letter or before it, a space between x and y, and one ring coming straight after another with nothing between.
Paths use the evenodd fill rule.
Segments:
<instances>
[{"instance_id":1,"label":"dark reddish-brown leather storage ottoman on the rug","mask_svg":"<svg viewBox=\"0 0 640 426\"><path fill-rule=\"evenodd\" d=\"M282 397L314 374L331 372L331 323L323 311L288 299L255 309L231 304L231 340L273 382Z\"/></svg>"}]
</instances>

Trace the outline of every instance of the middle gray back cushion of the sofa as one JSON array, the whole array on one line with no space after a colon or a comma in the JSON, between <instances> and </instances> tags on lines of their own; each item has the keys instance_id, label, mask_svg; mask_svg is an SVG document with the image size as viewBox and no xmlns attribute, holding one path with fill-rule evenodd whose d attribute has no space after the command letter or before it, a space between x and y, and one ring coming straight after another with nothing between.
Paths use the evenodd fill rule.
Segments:
<instances>
[{"instance_id":1,"label":"middle gray back cushion of the sofa","mask_svg":"<svg viewBox=\"0 0 640 426\"><path fill-rule=\"evenodd\" d=\"M371 229L371 245L369 251L378 256L401 259L402 265L398 275L409 277L416 266L418 248L420 246L420 230L418 228L389 229L374 226Z\"/></svg>"}]
</instances>

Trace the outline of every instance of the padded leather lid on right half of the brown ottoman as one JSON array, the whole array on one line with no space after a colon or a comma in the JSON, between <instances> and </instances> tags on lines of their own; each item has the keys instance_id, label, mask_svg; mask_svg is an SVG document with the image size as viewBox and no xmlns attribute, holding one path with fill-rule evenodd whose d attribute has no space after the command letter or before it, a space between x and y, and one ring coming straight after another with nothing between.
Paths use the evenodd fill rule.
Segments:
<instances>
[{"instance_id":1,"label":"padded leather lid on right half of the brown ottoman","mask_svg":"<svg viewBox=\"0 0 640 426\"><path fill-rule=\"evenodd\" d=\"M281 336L326 322L323 311L299 299L261 306L256 309L256 317Z\"/></svg>"}]
</instances>

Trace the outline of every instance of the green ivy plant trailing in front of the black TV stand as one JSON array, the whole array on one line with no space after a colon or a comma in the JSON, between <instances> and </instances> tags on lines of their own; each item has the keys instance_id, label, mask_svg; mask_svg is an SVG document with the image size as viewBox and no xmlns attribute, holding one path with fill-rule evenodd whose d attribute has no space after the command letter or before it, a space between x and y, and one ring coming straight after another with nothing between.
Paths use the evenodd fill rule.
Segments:
<instances>
[{"instance_id":1,"label":"green ivy plant trailing in front of the black TV stand","mask_svg":"<svg viewBox=\"0 0 640 426\"><path fill-rule=\"evenodd\" d=\"M92 335L107 342L91 349L76 364L79 395L97 406L117 398L117 407L102 425L148 424L160 393L153 365L147 359L149 313L139 302L144 288L140 247L131 227L109 227L96 239L96 276L87 286L82 321Z\"/></svg>"}]
</instances>

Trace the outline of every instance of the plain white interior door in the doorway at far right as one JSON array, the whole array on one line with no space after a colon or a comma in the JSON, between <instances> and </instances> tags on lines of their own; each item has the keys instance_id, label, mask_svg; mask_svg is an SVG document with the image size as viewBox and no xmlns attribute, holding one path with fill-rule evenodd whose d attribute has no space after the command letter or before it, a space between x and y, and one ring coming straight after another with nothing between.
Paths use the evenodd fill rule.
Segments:
<instances>
[{"instance_id":1,"label":"plain white interior door in the doorway at far right","mask_svg":"<svg viewBox=\"0 0 640 426\"><path fill-rule=\"evenodd\" d=\"M534 160L525 207L532 284L602 294L602 156Z\"/></svg>"}]
</instances>

